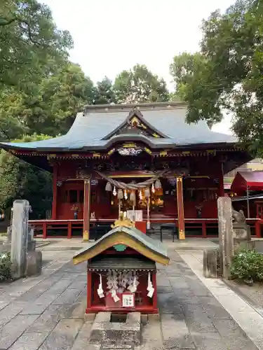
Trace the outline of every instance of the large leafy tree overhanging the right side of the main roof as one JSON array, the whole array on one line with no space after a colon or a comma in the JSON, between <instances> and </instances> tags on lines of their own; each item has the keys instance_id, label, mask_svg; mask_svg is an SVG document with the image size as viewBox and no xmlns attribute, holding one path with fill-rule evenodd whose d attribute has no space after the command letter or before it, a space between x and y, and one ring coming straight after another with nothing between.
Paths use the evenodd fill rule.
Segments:
<instances>
[{"instance_id":1,"label":"large leafy tree overhanging the right side of the main roof","mask_svg":"<svg viewBox=\"0 0 263 350\"><path fill-rule=\"evenodd\" d=\"M203 21L201 52L170 66L177 92L189 105L189 123L234 113L233 130L248 149L263 154L263 2L238 0Z\"/></svg>"}]
</instances>

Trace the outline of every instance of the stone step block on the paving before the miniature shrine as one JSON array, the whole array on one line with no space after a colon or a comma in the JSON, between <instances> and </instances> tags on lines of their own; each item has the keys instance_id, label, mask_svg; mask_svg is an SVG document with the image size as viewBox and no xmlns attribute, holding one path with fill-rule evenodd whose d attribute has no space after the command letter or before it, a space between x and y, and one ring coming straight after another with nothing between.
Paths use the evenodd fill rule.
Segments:
<instances>
[{"instance_id":1,"label":"stone step block on the paving before the miniature shrine","mask_svg":"<svg viewBox=\"0 0 263 350\"><path fill-rule=\"evenodd\" d=\"M91 344L107 344L131 349L141 342L140 312L127 314L126 322L112 322L111 312L99 312L90 333ZM109 348L110 349L110 348Z\"/></svg>"}]
</instances>

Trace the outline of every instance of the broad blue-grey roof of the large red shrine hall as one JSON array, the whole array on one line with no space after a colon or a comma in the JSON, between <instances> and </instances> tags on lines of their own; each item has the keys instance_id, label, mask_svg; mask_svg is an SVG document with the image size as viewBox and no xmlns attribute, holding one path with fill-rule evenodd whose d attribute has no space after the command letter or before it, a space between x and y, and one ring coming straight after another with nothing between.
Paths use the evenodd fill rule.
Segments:
<instances>
[{"instance_id":1,"label":"broad blue-grey roof of the large red shrine hall","mask_svg":"<svg viewBox=\"0 0 263 350\"><path fill-rule=\"evenodd\" d=\"M133 118L142 123L140 132L123 130ZM1 143L6 149L29 151L103 151L118 141L141 141L151 148L234 144L236 139L213 132L205 121L187 124L187 106L175 102L86 106L62 137L27 143ZM144 130L143 130L144 128Z\"/></svg>"}]
</instances>

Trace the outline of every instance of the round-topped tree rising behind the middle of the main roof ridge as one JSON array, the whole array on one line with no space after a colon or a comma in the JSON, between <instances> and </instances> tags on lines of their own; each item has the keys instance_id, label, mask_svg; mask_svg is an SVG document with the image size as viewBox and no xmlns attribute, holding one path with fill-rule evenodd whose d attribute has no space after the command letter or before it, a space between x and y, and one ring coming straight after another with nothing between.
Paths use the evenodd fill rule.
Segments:
<instances>
[{"instance_id":1,"label":"round-topped tree rising behind the middle of the main roof ridge","mask_svg":"<svg viewBox=\"0 0 263 350\"><path fill-rule=\"evenodd\" d=\"M169 99L165 81L141 64L119 73L114 81L114 90L119 103L159 102Z\"/></svg>"}]
</instances>

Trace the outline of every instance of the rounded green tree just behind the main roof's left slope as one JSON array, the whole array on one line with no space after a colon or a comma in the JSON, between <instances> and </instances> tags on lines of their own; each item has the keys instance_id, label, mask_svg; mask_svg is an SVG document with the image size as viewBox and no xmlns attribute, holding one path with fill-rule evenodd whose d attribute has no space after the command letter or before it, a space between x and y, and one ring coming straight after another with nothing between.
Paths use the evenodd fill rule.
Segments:
<instances>
[{"instance_id":1,"label":"rounded green tree just behind the main roof's left slope","mask_svg":"<svg viewBox=\"0 0 263 350\"><path fill-rule=\"evenodd\" d=\"M93 104L95 87L78 64L66 64L52 76L44 78L34 99L27 98L25 125L31 132L52 136L65 134L76 113L85 104Z\"/></svg>"}]
</instances>

